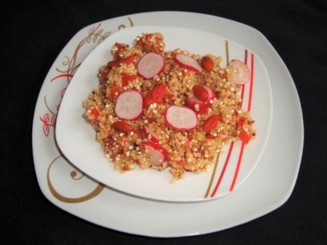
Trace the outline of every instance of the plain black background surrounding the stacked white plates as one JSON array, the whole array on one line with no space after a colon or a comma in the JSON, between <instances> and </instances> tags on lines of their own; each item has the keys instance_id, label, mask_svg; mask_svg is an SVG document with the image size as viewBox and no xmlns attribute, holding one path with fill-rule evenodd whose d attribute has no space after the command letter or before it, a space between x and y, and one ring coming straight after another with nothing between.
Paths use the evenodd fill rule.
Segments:
<instances>
[{"instance_id":1,"label":"plain black background surrounding the stacked white plates","mask_svg":"<svg viewBox=\"0 0 327 245\"><path fill-rule=\"evenodd\" d=\"M1 11L3 244L327 243L326 1L3 1ZM227 230L163 239L95 225L57 208L41 193L31 133L36 99L50 66L85 26L149 11L198 12L248 24L266 36L285 62L301 100L305 138L295 188L277 210Z\"/></svg>"}]
</instances>

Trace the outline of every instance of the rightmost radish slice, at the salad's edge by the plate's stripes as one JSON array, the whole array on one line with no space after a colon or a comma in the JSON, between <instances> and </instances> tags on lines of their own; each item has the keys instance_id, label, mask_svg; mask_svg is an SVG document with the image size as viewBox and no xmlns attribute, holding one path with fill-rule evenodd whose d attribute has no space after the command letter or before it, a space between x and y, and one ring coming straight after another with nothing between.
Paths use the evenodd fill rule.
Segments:
<instances>
[{"instance_id":1,"label":"rightmost radish slice, at the salad's edge by the plate's stripes","mask_svg":"<svg viewBox=\"0 0 327 245\"><path fill-rule=\"evenodd\" d=\"M250 80L249 67L240 60L231 60L226 71L227 79L236 85L247 83Z\"/></svg>"}]
</instances>

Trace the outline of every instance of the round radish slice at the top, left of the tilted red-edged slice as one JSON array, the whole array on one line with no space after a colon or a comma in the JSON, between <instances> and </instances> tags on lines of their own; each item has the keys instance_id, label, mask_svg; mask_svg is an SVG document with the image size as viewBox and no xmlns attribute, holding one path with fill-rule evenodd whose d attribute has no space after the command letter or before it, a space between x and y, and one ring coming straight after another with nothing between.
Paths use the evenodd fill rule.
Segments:
<instances>
[{"instance_id":1,"label":"round radish slice at the top, left of the tilted red-edged slice","mask_svg":"<svg viewBox=\"0 0 327 245\"><path fill-rule=\"evenodd\" d=\"M137 71L145 79L159 75L165 67L166 60L161 54L149 52L141 57L137 63Z\"/></svg>"}]
</instances>

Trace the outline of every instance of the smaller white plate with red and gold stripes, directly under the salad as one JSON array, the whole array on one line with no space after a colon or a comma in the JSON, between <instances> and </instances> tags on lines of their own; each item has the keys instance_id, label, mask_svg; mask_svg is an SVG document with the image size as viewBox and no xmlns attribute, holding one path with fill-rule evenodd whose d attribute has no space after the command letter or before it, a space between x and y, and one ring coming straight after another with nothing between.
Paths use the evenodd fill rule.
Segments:
<instances>
[{"instance_id":1,"label":"smaller white plate with red and gold stripes, directly under the salad","mask_svg":"<svg viewBox=\"0 0 327 245\"><path fill-rule=\"evenodd\" d=\"M251 79L244 85L242 107L251 110L258 134L247 146L240 141L224 147L217 162L212 163L210 172L194 174L188 172L185 178L170 183L169 169L159 172L152 169L122 174L114 169L100 144L95 140L96 132L87 124L82 104L89 94L99 87L100 66L113 59L111 48L117 42L132 46L142 33L160 32L166 44L166 51L181 48L191 53L222 56L226 67L229 59L248 63ZM227 49L227 50L226 50ZM240 92L241 94L241 92ZM55 136L64 156L79 170L99 182L117 190L145 198L163 201L204 201L231 193L240 186L257 165L268 140L272 119L272 94L268 73L262 61L251 50L217 35L192 29L138 26L109 36L81 63L71 79L60 103ZM219 187L219 188L218 188Z\"/></svg>"}]
</instances>

